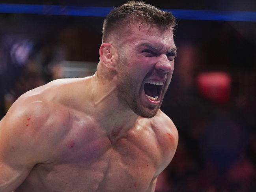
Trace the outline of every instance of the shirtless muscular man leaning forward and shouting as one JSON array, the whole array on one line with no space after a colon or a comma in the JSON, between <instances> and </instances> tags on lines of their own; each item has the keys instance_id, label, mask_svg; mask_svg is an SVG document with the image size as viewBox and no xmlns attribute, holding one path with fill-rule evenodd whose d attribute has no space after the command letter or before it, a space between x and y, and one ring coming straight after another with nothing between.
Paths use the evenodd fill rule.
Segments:
<instances>
[{"instance_id":1,"label":"shirtless muscular man leaning forward and shouting","mask_svg":"<svg viewBox=\"0 0 256 192\"><path fill-rule=\"evenodd\" d=\"M103 25L95 75L28 91L0 122L0 191L153 192L178 132L159 107L175 19L128 2Z\"/></svg>"}]
</instances>

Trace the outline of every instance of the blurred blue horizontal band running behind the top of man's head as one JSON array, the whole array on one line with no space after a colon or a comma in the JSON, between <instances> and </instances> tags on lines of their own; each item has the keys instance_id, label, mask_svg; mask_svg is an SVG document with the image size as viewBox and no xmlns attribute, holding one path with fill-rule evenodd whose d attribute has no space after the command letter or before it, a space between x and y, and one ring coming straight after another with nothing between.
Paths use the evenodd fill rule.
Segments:
<instances>
[{"instance_id":1,"label":"blurred blue horizontal band running behind the top of man's head","mask_svg":"<svg viewBox=\"0 0 256 192\"><path fill-rule=\"evenodd\" d=\"M0 13L22 13L36 15L67 15L105 17L113 7L78 7L32 4L0 4ZM178 19L208 21L256 22L256 11L205 11L185 9L162 9L171 11Z\"/></svg>"}]
</instances>

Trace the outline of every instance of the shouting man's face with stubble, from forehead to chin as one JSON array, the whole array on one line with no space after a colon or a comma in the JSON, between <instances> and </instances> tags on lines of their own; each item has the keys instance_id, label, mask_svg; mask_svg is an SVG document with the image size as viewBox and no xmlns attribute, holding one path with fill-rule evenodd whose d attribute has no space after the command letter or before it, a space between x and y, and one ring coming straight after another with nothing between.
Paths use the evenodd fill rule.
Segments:
<instances>
[{"instance_id":1,"label":"shouting man's face with stubble, from forehead to chin","mask_svg":"<svg viewBox=\"0 0 256 192\"><path fill-rule=\"evenodd\" d=\"M157 114L174 70L176 46L170 30L134 24L118 46L118 98L137 115Z\"/></svg>"}]
</instances>

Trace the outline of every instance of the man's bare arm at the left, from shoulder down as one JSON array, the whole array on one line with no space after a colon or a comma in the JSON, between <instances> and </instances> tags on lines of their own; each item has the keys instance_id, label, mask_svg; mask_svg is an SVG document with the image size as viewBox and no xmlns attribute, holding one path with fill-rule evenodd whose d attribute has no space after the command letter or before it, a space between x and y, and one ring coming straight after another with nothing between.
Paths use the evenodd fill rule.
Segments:
<instances>
[{"instance_id":1,"label":"man's bare arm at the left, from shoulder down","mask_svg":"<svg viewBox=\"0 0 256 192\"><path fill-rule=\"evenodd\" d=\"M36 117L38 112L43 115L40 104L20 103L13 104L0 121L0 192L15 190L43 160L38 137L41 132L38 122L42 118Z\"/></svg>"}]
</instances>

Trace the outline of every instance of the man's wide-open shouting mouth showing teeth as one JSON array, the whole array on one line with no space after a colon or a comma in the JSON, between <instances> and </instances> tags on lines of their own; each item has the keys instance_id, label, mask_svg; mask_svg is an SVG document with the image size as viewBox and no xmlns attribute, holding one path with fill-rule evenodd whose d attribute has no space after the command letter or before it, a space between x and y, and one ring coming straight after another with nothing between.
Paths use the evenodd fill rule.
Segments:
<instances>
[{"instance_id":1,"label":"man's wide-open shouting mouth showing teeth","mask_svg":"<svg viewBox=\"0 0 256 192\"><path fill-rule=\"evenodd\" d=\"M149 80L144 84L145 94L150 101L159 101L159 98L161 97L163 84L164 82L159 80Z\"/></svg>"}]
</instances>

